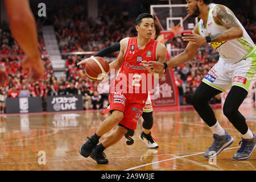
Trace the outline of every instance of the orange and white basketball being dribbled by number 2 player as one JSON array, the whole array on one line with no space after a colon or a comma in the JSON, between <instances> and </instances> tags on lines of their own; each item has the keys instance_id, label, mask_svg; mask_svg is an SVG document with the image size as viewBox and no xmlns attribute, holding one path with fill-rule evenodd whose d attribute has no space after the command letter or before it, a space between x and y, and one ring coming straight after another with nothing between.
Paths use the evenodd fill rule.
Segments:
<instances>
[{"instance_id":1,"label":"orange and white basketball being dribbled by number 2 player","mask_svg":"<svg viewBox=\"0 0 256 182\"><path fill-rule=\"evenodd\" d=\"M90 57L85 65L85 74L93 81L104 80L109 73L109 63L103 57Z\"/></svg>"}]
</instances>

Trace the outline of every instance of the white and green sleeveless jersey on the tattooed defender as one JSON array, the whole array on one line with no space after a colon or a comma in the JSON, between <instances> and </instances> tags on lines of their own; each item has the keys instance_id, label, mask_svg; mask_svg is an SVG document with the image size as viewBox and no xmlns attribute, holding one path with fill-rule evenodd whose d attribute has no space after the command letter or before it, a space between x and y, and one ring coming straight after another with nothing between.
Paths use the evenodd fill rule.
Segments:
<instances>
[{"instance_id":1,"label":"white and green sleeveless jersey on the tattooed defender","mask_svg":"<svg viewBox=\"0 0 256 182\"><path fill-rule=\"evenodd\" d=\"M203 19L201 19L199 22L198 28L201 36L220 34L221 32L226 31L224 26L217 24L213 19L213 8L216 5L217 4L214 3L209 5L209 14L206 27L204 27ZM255 44L253 43L253 40L251 40L250 36L247 34L245 28L243 28L238 19L237 22L243 30L243 36L241 38L208 43L220 54L221 59L228 64L234 64L240 60L246 59L255 50Z\"/></svg>"}]
</instances>

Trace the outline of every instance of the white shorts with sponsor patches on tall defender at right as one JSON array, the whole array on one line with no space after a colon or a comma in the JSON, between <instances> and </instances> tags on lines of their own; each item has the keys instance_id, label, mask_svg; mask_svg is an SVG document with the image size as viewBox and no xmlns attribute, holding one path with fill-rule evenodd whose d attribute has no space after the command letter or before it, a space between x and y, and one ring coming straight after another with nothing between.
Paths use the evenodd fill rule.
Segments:
<instances>
[{"instance_id":1,"label":"white shorts with sponsor patches on tall defender at right","mask_svg":"<svg viewBox=\"0 0 256 182\"><path fill-rule=\"evenodd\" d=\"M235 64L225 63L221 58L202 80L222 92L231 86L241 86L250 92L256 81L256 51Z\"/></svg>"}]
</instances>

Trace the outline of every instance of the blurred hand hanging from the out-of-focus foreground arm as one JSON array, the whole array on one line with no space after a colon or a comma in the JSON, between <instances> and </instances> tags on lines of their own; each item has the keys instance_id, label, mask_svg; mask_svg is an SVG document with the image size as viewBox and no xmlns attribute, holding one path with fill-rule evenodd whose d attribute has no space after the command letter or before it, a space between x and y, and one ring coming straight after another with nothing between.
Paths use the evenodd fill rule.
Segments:
<instances>
[{"instance_id":1,"label":"blurred hand hanging from the out-of-focus foreground arm","mask_svg":"<svg viewBox=\"0 0 256 182\"><path fill-rule=\"evenodd\" d=\"M22 67L25 70L31 68L31 72L28 75L28 84L34 84L36 81L43 78L44 64L40 57L38 59L32 59L30 57L27 57L25 60L22 61Z\"/></svg>"}]
</instances>

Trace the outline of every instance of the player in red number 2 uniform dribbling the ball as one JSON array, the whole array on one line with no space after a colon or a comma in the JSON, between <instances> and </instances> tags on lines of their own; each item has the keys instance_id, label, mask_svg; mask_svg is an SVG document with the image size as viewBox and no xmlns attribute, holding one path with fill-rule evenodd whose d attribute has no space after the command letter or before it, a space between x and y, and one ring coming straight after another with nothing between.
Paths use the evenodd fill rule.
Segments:
<instances>
[{"instance_id":1,"label":"player in red number 2 uniform dribbling the ball","mask_svg":"<svg viewBox=\"0 0 256 182\"><path fill-rule=\"evenodd\" d=\"M87 158L90 156L98 164L107 164L104 154L105 148L117 143L128 131L135 130L138 119L148 96L148 71L139 64L142 60L166 61L166 47L164 44L151 39L154 28L152 15L143 13L135 20L138 37L124 38L120 42L120 52L117 60L110 63L110 69L121 68L115 81L110 86L110 106L104 112L112 113L97 129L96 133L80 147L80 154ZM161 78L163 72L153 74ZM117 125L117 129L109 133L104 141L98 144L100 137L108 133ZM98 144L98 145L97 145Z\"/></svg>"}]
</instances>

